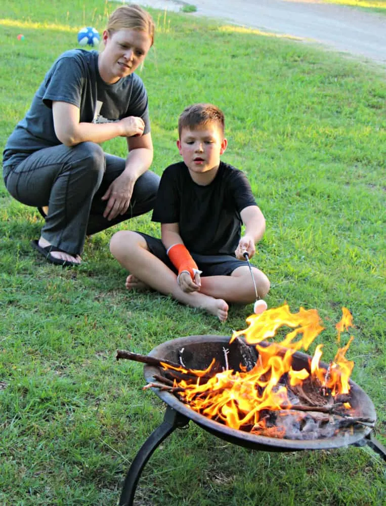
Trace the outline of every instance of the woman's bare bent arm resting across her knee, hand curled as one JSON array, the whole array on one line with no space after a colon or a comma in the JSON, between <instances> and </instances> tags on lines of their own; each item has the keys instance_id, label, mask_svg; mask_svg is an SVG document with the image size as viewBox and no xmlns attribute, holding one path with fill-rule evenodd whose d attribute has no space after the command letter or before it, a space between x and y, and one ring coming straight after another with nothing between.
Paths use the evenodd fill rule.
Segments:
<instances>
[{"instance_id":1,"label":"woman's bare bent arm resting across her knee, hand curled","mask_svg":"<svg viewBox=\"0 0 386 506\"><path fill-rule=\"evenodd\" d=\"M53 102L55 135L66 146L92 141L97 144L115 137L141 136L145 123L136 116L128 116L111 123L81 123L79 108L67 102Z\"/></svg>"}]
</instances>

